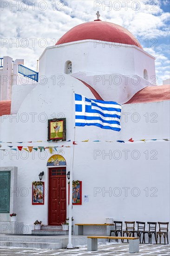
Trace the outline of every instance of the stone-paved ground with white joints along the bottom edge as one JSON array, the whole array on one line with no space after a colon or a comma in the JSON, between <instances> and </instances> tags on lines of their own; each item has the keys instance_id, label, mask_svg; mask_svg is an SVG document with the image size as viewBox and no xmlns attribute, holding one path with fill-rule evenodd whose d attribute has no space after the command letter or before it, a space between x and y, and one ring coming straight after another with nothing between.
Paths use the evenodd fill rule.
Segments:
<instances>
[{"instance_id":1,"label":"stone-paved ground with white joints along the bottom edge","mask_svg":"<svg viewBox=\"0 0 170 256\"><path fill-rule=\"evenodd\" d=\"M0 247L0 256L170 256L170 245L163 244L140 244L139 253L129 253L129 244L127 243L99 243L98 251L88 252L87 246L81 246L79 249L29 249Z\"/></svg>"}]
</instances>

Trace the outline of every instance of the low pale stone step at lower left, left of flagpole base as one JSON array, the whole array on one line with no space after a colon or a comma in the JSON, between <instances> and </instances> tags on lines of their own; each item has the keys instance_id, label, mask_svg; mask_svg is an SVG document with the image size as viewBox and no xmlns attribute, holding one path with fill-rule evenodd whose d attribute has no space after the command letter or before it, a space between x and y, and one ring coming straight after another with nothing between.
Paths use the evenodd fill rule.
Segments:
<instances>
[{"instance_id":1,"label":"low pale stone step at lower left, left of flagpole base","mask_svg":"<svg viewBox=\"0 0 170 256\"><path fill-rule=\"evenodd\" d=\"M37 249L62 249L62 243L35 243L35 242L0 241L0 246L37 248Z\"/></svg>"}]
</instances>

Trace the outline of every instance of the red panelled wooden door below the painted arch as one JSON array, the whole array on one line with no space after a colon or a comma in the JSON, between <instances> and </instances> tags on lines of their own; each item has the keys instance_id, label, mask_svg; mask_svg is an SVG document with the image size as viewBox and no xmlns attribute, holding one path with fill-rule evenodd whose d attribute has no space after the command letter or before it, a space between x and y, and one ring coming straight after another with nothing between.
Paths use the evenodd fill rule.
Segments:
<instances>
[{"instance_id":1,"label":"red panelled wooden door below the painted arch","mask_svg":"<svg viewBox=\"0 0 170 256\"><path fill-rule=\"evenodd\" d=\"M66 219L66 168L49 169L48 225L61 225Z\"/></svg>"}]
</instances>

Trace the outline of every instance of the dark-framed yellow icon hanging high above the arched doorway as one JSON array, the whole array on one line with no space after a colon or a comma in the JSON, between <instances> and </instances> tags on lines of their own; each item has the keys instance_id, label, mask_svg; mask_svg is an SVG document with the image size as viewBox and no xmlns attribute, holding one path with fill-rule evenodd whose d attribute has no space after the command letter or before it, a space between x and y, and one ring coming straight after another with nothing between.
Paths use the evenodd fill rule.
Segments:
<instances>
[{"instance_id":1,"label":"dark-framed yellow icon hanging high above the arched doorway","mask_svg":"<svg viewBox=\"0 0 170 256\"><path fill-rule=\"evenodd\" d=\"M48 120L48 141L66 141L66 119Z\"/></svg>"}]
</instances>

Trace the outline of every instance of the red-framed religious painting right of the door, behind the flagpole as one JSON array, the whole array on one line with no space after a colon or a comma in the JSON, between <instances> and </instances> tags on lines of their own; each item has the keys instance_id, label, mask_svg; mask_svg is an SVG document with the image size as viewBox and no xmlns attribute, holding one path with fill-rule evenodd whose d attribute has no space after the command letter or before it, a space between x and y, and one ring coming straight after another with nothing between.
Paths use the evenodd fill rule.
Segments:
<instances>
[{"instance_id":1,"label":"red-framed religious painting right of the door, behind the flagpole","mask_svg":"<svg viewBox=\"0 0 170 256\"><path fill-rule=\"evenodd\" d=\"M69 200L70 200L70 184L69 184ZM68 201L69 201L68 200ZM72 181L72 204L80 205L82 204L82 182Z\"/></svg>"}]
</instances>

